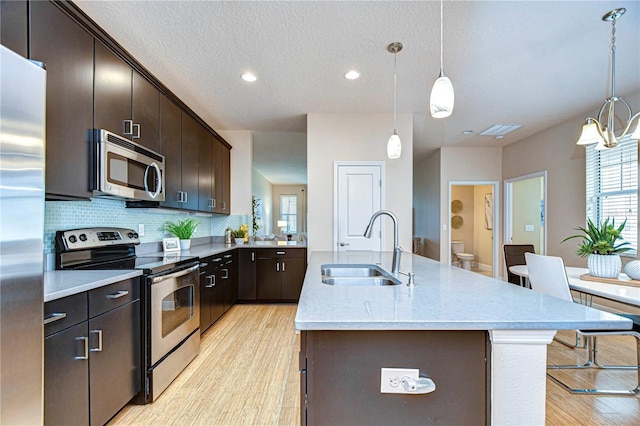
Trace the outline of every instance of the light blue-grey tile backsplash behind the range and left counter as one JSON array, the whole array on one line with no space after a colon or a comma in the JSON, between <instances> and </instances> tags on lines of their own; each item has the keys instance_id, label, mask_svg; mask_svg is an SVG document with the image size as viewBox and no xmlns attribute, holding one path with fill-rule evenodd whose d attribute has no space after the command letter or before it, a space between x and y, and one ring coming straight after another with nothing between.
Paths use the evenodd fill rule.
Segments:
<instances>
[{"instance_id":1,"label":"light blue-grey tile backsplash behind the range and left counter","mask_svg":"<svg viewBox=\"0 0 640 426\"><path fill-rule=\"evenodd\" d=\"M55 252L56 231L87 228L93 226L113 226L138 231L144 225L141 243L161 241L165 236L163 224L195 217L201 223L194 237L222 236L227 226L237 229L243 223L251 223L251 215L207 215L187 213L168 209L128 209L125 202L118 199L93 198L91 201L46 201L44 216L44 251Z\"/></svg>"}]
</instances>

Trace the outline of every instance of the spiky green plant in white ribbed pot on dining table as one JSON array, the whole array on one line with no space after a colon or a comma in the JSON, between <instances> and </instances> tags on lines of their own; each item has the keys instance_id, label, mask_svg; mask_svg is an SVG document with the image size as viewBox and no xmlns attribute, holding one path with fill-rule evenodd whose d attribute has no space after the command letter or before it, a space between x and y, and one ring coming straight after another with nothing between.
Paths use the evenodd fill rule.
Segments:
<instances>
[{"instance_id":1,"label":"spiky green plant in white ribbed pot on dining table","mask_svg":"<svg viewBox=\"0 0 640 426\"><path fill-rule=\"evenodd\" d=\"M616 228L615 220L607 218L600 226L587 220L587 227L575 228L581 231L580 234L571 235L562 240L564 243L572 238L582 238L582 243L578 246L576 253L579 256L587 257L587 266L589 274L600 278L618 278L622 269L622 260L620 253L631 250L625 247L629 242L617 242L622 240L622 230L627 224L625 220L622 225Z\"/></svg>"}]
</instances>

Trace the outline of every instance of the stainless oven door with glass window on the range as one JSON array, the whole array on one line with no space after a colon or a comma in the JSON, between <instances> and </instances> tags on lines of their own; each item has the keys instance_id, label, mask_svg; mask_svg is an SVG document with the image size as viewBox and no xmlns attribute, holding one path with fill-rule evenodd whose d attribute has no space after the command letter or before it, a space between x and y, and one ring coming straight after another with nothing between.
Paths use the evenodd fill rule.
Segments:
<instances>
[{"instance_id":1,"label":"stainless oven door with glass window on the range","mask_svg":"<svg viewBox=\"0 0 640 426\"><path fill-rule=\"evenodd\" d=\"M198 265L150 276L150 365L155 365L200 327Z\"/></svg>"}]
</instances>

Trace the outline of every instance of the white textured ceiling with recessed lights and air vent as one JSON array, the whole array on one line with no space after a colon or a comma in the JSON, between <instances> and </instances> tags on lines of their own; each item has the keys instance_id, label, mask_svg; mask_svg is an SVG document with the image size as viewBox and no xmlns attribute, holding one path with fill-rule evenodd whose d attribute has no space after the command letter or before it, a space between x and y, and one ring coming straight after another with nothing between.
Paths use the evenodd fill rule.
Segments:
<instances>
[{"instance_id":1,"label":"white textured ceiling with recessed lights and air vent","mask_svg":"<svg viewBox=\"0 0 640 426\"><path fill-rule=\"evenodd\" d=\"M440 146L503 146L597 109L610 95L611 24L601 17L616 7L627 8L616 26L616 92L640 90L639 1L446 1L444 69L456 101L439 120L428 114L438 1L76 4L214 129L255 131L266 144L258 154L277 140L304 144L308 113L391 113L393 41L404 44L397 105L413 115L416 158ZM352 68L360 79L344 79ZM258 81L243 82L245 71ZM502 140L478 135L494 124L523 127ZM306 149L277 149L292 164L306 159Z\"/></svg>"}]
</instances>

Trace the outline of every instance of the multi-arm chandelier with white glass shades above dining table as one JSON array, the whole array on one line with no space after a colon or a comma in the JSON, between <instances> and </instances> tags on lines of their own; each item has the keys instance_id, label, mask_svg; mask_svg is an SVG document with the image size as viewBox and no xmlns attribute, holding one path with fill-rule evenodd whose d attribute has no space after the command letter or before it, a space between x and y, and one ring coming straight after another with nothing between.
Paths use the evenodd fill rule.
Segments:
<instances>
[{"instance_id":1,"label":"multi-arm chandelier with white glass shades above dining table","mask_svg":"<svg viewBox=\"0 0 640 426\"><path fill-rule=\"evenodd\" d=\"M631 125L637 118L640 117L640 113L633 115L631 107L624 99L616 96L616 19L624 15L627 10L624 7L614 9L607 12L602 20L607 22L611 21L611 97L605 99L604 104L598 112L598 118L587 117L585 119L584 126L582 126L582 133L578 139L578 145L591 145L597 143L596 149L608 149L615 148L620 143L620 140L627 136ZM615 104L620 102L627 110L627 121L622 132L619 132L619 136L615 135ZM606 114L606 122L603 122L603 116ZM640 139L640 120L636 124L636 129L631 135L631 139Z\"/></svg>"}]
</instances>

